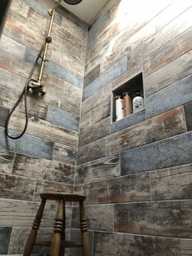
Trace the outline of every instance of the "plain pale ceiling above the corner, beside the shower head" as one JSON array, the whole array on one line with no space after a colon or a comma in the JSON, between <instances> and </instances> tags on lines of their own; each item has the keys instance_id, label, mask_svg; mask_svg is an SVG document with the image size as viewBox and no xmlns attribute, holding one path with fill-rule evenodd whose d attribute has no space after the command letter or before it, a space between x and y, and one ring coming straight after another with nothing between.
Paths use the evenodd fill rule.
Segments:
<instances>
[{"instance_id":1,"label":"plain pale ceiling above the corner, beside the shower head","mask_svg":"<svg viewBox=\"0 0 192 256\"><path fill-rule=\"evenodd\" d=\"M64 1L61 5L71 11L74 15L84 20L87 24L91 24L95 16L110 0L83 0L79 4L72 6Z\"/></svg>"}]
</instances>

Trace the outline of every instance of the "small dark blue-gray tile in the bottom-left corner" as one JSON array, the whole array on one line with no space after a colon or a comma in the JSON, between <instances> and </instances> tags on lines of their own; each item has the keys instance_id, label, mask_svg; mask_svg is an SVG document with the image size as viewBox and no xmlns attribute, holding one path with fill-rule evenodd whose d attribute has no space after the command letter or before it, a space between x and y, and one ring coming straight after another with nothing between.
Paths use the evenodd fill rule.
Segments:
<instances>
[{"instance_id":1,"label":"small dark blue-gray tile in the bottom-left corner","mask_svg":"<svg viewBox=\"0 0 192 256\"><path fill-rule=\"evenodd\" d=\"M12 227L0 227L0 254L7 254Z\"/></svg>"}]
</instances>

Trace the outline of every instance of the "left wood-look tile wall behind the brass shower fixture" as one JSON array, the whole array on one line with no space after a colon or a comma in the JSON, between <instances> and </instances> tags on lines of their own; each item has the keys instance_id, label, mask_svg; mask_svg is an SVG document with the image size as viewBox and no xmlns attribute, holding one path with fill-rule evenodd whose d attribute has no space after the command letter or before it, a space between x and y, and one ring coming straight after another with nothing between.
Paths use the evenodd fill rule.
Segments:
<instances>
[{"instance_id":1,"label":"left wood-look tile wall behind the brass shower fixture","mask_svg":"<svg viewBox=\"0 0 192 256\"><path fill-rule=\"evenodd\" d=\"M24 137L15 141L4 135L7 114L45 42L47 11L53 5L50 0L13 0L0 41L0 254L23 254L41 192L74 188L87 25L64 9L55 15L43 74L46 97L28 96ZM11 130L20 132L24 121L23 101L11 118ZM71 206L67 214L70 227ZM49 238L54 218L55 205L49 202L40 236Z\"/></svg>"}]
</instances>

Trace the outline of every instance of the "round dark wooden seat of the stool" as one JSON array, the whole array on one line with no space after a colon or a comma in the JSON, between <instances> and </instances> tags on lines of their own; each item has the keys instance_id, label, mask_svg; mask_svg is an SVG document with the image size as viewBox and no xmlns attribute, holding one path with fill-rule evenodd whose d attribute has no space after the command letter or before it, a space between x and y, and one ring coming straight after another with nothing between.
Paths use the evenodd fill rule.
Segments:
<instances>
[{"instance_id":1,"label":"round dark wooden seat of the stool","mask_svg":"<svg viewBox=\"0 0 192 256\"><path fill-rule=\"evenodd\" d=\"M62 192L48 192L41 193L41 199L47 200L64 200L64 201L85 201L86 196L81 196L77 194L68 194Z\"/></svg>"}]
</instances>

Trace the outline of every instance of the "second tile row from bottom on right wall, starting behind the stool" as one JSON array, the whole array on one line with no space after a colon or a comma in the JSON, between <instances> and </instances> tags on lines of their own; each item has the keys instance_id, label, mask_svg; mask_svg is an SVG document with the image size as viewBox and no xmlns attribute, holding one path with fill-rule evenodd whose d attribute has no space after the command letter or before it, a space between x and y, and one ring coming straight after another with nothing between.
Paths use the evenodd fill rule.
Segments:
<instances>
[{"instance_id":1,"label":"second tile row from bottom on right wall, starting behind the stool","mask_svg":"<svg viewBox=\"0 0 192 256\"><path fill-rule=\"evenodd\" d=\"M191 200L85 205L89 229L150 236L192 238ZM79 228L72 207L72 228Z\"/></svg>"}]
</instances>

